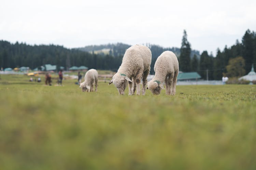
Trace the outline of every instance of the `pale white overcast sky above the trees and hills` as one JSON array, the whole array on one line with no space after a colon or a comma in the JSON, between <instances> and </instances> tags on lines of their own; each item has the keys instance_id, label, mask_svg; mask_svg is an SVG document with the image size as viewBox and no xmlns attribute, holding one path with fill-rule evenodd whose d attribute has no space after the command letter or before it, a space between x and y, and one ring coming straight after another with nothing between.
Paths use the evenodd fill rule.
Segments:
<instances>
[{"instance_id":1,"label":"pale white overcast sky above the trees and hills","mask_svg":"<svg viewBox=\"0 0 256 170\"><path fill-rule=\"evenodd\" d=\"M108 43L181 47L215 55L256 31L256 0L1 0L0 39L67 48Z\"/></svg>"}]
</instances>

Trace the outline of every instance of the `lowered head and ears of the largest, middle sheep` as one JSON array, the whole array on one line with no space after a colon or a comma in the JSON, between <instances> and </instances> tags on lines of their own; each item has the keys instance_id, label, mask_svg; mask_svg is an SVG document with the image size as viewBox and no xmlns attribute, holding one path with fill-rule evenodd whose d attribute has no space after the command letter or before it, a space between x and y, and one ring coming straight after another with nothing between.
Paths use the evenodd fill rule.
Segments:
<instances>
[{"instance_id":1,"label":"lowered head and ears of the largest, middle sheep","mask_svg":"<svg viewBox=\"0 0 256 170\"><path fill-rule=\"evenodd\" d=\"M120 73L116 73L114 76L113 76L113 78L112 78L112 80L110 80L110 82L109 82L109 85L111 84L111 83L113 83L115 86L116 86L116 88L117 88L117 90L118 90L118 92L119 92L119 95L124 95L125 94L125 88L126 88L126 86L127 86L127 82L132 82L127 76L126 76L126 74L120 74Z\"/></svg>"}]
</instances>

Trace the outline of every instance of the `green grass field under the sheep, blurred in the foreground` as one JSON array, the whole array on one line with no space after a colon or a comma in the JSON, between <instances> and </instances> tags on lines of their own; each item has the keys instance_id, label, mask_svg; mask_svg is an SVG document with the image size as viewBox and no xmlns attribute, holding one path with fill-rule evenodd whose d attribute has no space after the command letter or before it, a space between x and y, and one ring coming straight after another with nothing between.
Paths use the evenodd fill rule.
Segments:
<instances>
[{"instance_id":1,"label":"green grass field under the sheep, blurred in the foreground","mask_svg":"<svg viewBox=\"0 0 256 170\"><path fill-rule=\"evenodd\" d=\"M256 85L119 96L28 80L1 75L1 170L256 169Z\"/></svg>"}]
</instances>

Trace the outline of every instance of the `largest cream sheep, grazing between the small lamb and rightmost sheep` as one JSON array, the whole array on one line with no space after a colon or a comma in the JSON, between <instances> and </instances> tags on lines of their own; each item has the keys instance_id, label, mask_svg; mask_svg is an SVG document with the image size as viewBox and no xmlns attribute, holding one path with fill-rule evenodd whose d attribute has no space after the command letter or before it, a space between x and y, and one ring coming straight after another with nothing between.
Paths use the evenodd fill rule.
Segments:
<instances>
[{"instance_id":1,"label":"largest cream sheep, grazing between the small lamb and rightmost sheep","mask_svg":"<svg viewBox=\"0 0 256 170\"><path fill-rule=\"evenodd\" d=\"M137 95L140 95L140 82L142 79L142 95L145 95L147 75L150 71L152 54L148 47L134 45L128 48L117 73L110 83L113 83L119 95L124 95L127 82L129 82L129 95L134 95L137 87Z\"/></svg>"}]
</instances>

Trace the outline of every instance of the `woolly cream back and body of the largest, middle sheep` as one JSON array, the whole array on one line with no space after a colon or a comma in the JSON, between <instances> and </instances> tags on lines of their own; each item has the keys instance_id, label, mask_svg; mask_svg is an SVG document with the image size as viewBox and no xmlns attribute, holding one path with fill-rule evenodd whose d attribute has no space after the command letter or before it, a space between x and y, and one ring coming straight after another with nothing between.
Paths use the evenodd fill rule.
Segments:
<instances>
[{"instance_id":1,"label":"woolly cream back and body of the largest, middle sheep","mask_svg":"<svg viewBox=\"0 0 256 170\"><path fill-rule=\"evenodd\" d=\"M139 58L142 59L138 60ZM150 68L152 54L148 47L134 45L128 48L124 54L123 61L117 73L126 74L130 77L138 68L143 67L143 72Z\"/></svg>"}]
</instances>

